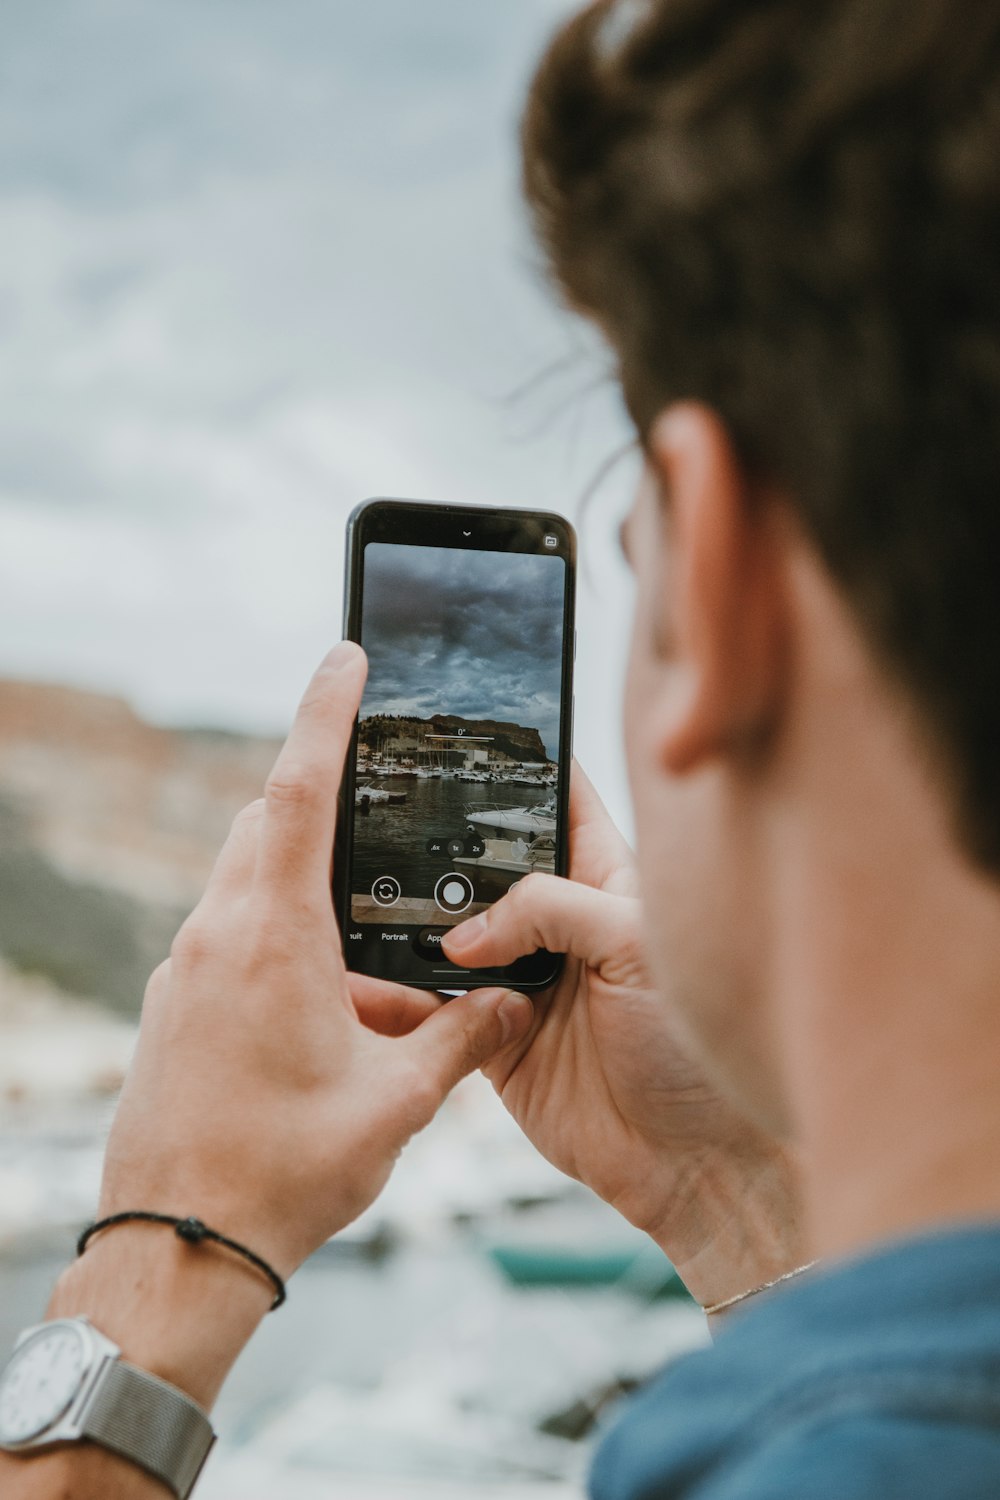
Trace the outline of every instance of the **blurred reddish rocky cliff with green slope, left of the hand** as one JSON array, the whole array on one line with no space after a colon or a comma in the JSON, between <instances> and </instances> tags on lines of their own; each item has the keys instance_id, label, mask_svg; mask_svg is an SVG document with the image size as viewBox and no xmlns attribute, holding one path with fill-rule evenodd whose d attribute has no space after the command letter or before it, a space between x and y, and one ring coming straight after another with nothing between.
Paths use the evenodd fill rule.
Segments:
<instances>
[{"instance_id":1,"label":"blurred reddish rocky cliff with green slope, left of the hand","mask_svg":"<svg viewBox=\"0 0 1000 1500\"><path fill-rule=\"evenodd\" d=\"M0 956L135 1011L276 742L0 681Z\"/></svg>"}]
</instances>

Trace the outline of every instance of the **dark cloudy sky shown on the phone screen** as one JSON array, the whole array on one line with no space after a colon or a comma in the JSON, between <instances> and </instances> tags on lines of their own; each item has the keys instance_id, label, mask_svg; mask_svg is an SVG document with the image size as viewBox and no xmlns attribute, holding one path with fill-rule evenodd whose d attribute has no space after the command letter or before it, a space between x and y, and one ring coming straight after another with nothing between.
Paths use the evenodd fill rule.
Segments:
<instances>
[{"instance_id":1,"label":"dark cloudy sky shown on the phone screen","mask_svg":"<svg viewBox=\"0 0 1000 1500\"><path fill-rule=\"evenodd\" d=\"M361 639L367 714L457 714L559 748L565 564L535 554L370 543Z\"/></svg>"}]
</instances>

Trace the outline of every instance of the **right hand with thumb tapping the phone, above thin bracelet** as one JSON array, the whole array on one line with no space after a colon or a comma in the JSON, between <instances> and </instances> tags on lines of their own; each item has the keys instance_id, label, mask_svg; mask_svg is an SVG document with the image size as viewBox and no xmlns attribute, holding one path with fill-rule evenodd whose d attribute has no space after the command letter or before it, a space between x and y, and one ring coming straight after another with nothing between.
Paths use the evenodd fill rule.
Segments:
<instances>
[{"instance_id":1,"label":"right hand with thumb tapping the phone, above thin bracelet","mask_svg":"<svg viewBox=\"0 0 1000 1500\"><path fill-rule=\"evenodd\" d=\"M807 1257L793 1156L685 1056L643 960L633 855L574 765L570 879L531 874L442 946L492 968L549 948L562 976L486 1065L535 1146L670 1256L709 1304Z\"/></svg>"}]
</instances>

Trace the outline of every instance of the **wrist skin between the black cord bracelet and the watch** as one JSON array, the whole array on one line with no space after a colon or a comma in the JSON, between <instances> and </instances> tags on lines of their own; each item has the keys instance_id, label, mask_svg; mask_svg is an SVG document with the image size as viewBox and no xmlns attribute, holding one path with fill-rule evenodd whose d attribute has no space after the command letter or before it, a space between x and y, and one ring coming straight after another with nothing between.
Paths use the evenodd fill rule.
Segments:
<instances>
[{"instance_id":1,"label":"wrist skin between the black cord bracelet and the watch","mask_svg":"<svg viewBox=\"0 0 1000 1500\"><path fill-rule=\"evenodd\" d=\"M63 1272L46 1317L85 1314L123 1359L208 1410L271 1294L253 1268L216 1246L127 1224Z\"/></svg>"}]
</instances>

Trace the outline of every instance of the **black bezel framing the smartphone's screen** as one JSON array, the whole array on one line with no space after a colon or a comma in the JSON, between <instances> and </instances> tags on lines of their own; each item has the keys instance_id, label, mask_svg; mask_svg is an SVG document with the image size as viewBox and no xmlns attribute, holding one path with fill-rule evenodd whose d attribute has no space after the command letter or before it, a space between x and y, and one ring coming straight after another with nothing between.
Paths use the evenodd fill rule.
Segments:
<instances>
[{"instance_id":1,"label":"black bezel framing the smartphone's screen","mask_svg":"<svg viewBox=\"0 0 1000 1500\"><path fill-rule=\"evenodd\" d=\"M544 537L556 536L555 550L565 562L565 592L562 621L562 700L559 732L559 765L573 762L573 664L576 656L576 532L565 516L555 512L517 510L486 506L454 506L421 500L366 500L348 518L348 542L343 580L343 634L349 640L361 639L363 572L364 549L372 542L387 542L397 546L444 546L457 550L496 550L540 554ZM490 543L495 543L490 546ZM511 544L517 543L517 544ZM357 778L355 720L351 746L343 768L337 812L337 842L334 849L333 890L337 924L348 958L346 930L349 916L351 843L354 831L354 788ZM568 873L570 861L570 777L561 776L558 796L556 873ZM408 951L412 950L408 945ZM466 974L456 969L454 984L447 976L423 978L418 960L414 974L405 982L414 988L472 990L508 986L519 990L546 990L558 980L562 956L540 950L504 970ZM363 970L358 970L363 972Z\"/></svg>"}]
</instances>

